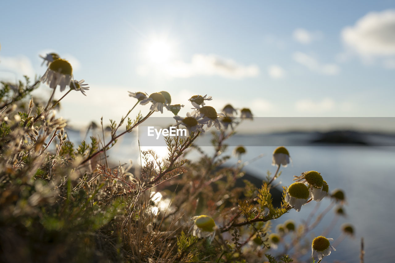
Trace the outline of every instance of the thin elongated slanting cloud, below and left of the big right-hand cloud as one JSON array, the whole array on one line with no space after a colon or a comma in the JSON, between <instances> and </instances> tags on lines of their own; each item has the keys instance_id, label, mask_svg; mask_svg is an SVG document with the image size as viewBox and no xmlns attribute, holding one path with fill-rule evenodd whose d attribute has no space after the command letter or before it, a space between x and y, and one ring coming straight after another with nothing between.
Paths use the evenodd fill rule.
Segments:
<instances>
[{"instance_id":1,"label":"thin elongated slanting cloud, below and left of the big right-hand cloud","mask_svg":"<svg viewBox=\"0 0 395 263\"><path fill-rule=\"evenodd\" d=\"M322 64L314 57L309 56L303 52L295 52L292 55L293 60L297 63L304 65L311 71L315 71L324 75L338 75L340 67L336 64Z\"/></svg>"}]
</instances>

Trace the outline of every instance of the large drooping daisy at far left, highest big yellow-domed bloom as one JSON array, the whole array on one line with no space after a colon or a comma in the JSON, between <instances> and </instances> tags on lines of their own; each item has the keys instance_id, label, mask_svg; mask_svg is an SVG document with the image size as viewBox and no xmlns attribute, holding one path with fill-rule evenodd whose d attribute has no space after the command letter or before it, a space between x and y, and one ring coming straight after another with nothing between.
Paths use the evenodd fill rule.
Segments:
<instances>
[{"instance_id":1,"label":"large drooping daisy at far left, highest big yellow-domed bloom","mask_svg":"<svg viewBox=\"0 0 395 263\"><path fill-rule=\"evenodd\" d=\"M73 68L67 60L57 59L49 64L47 71L40 78L40 81L47 83L50 88L55 89L60 86L60 91L64 91L69 86L73 78Z\"/></svg>"}]
</instances>

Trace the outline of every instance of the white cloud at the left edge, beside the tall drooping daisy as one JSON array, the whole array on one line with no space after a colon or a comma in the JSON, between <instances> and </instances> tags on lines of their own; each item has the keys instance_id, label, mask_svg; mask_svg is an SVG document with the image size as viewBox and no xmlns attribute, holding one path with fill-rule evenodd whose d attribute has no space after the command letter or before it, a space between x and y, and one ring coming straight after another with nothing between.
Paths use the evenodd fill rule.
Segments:
<instances>
[{"instance_id":1,"label":"white cloud at the left edge, beside the tall drooping daisy","mask_svg":"<svg viewBox=\"0 0 395 263\"><path fill-rule=\"evenodd\" d=\"M7 73L8 72L8 73ZM35 71L32 66L32 62L26 56L20 55L16 57L2 57L0 56L0 73L2 80L15 81L15 75L17 79L21 79L23 75L27 75L30 78L34 78Z\"/></svg>"}]
</instances>

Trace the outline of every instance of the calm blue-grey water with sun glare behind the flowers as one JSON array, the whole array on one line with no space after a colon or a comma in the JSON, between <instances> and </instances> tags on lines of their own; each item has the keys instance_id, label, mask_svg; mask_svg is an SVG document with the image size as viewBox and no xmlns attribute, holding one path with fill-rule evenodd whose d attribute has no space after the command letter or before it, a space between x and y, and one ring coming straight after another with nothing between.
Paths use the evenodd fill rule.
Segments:
<instances>
[{"instance_id":1,"label":"calm blue-grey water with sun glare behind the flowers","mask_svg":"<svg viewBox=\"0 0 395 263\"><path fill-rule=\"evenodd\" d=\"M69 134L70 135L70 134ZM273 136L284 139L285 146L295 145L295 141L303 140L303 135L261 135L261 136L235 136L229 140L229 151L235 145L256 145L258 140L271 140ZM77 134L72 136L77 138ZM372 138L385 142L386 138ZM204 139L206 140L206 139ZM204 144L203 140L203 144ZM393 139L392 139L393 142ZM113 160L127 162L139 159L137 140L128 134L127 137L119 141L114 149L110 151ZM263 145L263 144L261 144ZM265 144L270 145L270 144ZM298 145L298 144L296 144ZM347 204L345 211L346 218L340 217L337 224L327 234L327 237L337 239L340 232L340 225L349 222L354 225L355 239L346 238L339 245L337 251L327 257L327 262L336 260L359 263L360 239L365 242L365 262L393 262L393 237L395 228L393 218L395 218L393 200L395 198L395 183L392 179L395 171L395 147L378 146L289 146L288 151L293 160L293 165L282 168L282 175L276 179L276 183L288 186L293 183L293 175L300 175L301 172L316 170L321 173L324 180L329 184L329 191L341 188L346 193ZM394 145L394 144L392 144ZM205 148L211 151L211 148ZM275 167L271 166L271 154L274 146L248 146L247 153L243 160L254 159L260 154L264 154L258 160L251 162L245 170L257 177L264 177L267 170L275 172ZM194 155L191 155L192 158ZM191 158L189 156L189 158ZM195 155L196 156L196 155ZM233 164L236 159L229 160ZM324 198L320 203L319 211L324 210L330 200ZM316 202L311 202L302 207L300 212L295 210L282 216L273 223L282 223L292 218L297 223L301 223L307 218L310 211L316 206ZM329 212L320 224L307 235L307 240L322 234L324 229L333 220L333 213ZM281 250L280 250L281 251ZM308 249L306 260L311 259L311 247ZM309 261L311 262L311 260Z\"/></svg>"}]
</instances>

